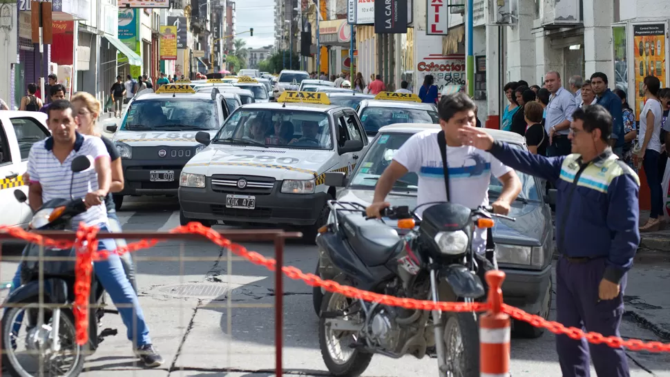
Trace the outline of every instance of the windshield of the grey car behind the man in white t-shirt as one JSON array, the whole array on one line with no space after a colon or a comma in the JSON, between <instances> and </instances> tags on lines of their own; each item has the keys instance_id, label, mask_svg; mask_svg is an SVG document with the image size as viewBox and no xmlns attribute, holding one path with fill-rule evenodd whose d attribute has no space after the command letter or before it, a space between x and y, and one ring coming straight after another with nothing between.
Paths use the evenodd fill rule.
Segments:
<instances>
[{"instance_id":1,"label":"windshield of the grey car behind the man in white t-shirt","mask_svg":"<svg viewBox=\"0 0 670 377\"><path fill-rule=\"evenodd\" d=\"M381 177L385 168L391 164L393 155L405 144L405 142L412 137L410 133L383 133L376 138L374 144L370 144L370 148L363 156L360 164L356 165L356 171L352 175L351 188L352 189L369 189L374 190L377 180ZM519 144L510 144L514 148L523 148ZM521 200L539 200L539 192L535 185L535 178L517 171L519 180L521 180L521 193L519 198ZM416 173L406 173L393 186L393 191L417 191L419 187L419 177ZM488 195L497 197L502 189L501 182L491 175L490 183L488 185Z\"/></svg>"}]
</instances>

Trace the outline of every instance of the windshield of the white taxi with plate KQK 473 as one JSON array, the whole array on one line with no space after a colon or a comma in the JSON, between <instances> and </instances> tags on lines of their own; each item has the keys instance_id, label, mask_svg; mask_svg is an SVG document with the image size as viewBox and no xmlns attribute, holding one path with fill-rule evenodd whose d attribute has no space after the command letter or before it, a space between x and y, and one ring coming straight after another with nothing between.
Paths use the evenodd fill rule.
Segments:
<instances>
[{"instance_id":1,"label":"windshield of the white taxi with plate KQK 473","mask_svg":"<svg viewBox=\"0 0 670 377\"><path fill-rule=\"evenodd\" d=\"M328 115L314 111L238 108L212 141L276 148L333 148Z\"/></svg>"}]
</instances>

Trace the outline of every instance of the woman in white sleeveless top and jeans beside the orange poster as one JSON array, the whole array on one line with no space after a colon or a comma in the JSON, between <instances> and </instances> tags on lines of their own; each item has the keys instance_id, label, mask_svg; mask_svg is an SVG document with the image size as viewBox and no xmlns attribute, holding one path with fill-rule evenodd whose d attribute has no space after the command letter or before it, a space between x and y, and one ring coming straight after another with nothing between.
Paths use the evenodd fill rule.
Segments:
<instances>
[{"instance_id":1,"label":"woman in white sleeveless top and jeans beside the orange poster","mask_svg":"<svg viewBox=\"0 0 670 377\"><path fill-rule=\"evenodd\" d=\"M644 77L642 90L647 101L640 112L640 136L641 144L638 151L638 161L642 160L644 175L647 176L649 184L649 195L651 196L651 213L649 220L640 226L641 232L658 231L664 226L663 220L663 194L661 190L661 177L658 174L658 159L661 152L660 132L663 109L658 100L660 81L658 77Z\"/></svg>"}]
</instances>

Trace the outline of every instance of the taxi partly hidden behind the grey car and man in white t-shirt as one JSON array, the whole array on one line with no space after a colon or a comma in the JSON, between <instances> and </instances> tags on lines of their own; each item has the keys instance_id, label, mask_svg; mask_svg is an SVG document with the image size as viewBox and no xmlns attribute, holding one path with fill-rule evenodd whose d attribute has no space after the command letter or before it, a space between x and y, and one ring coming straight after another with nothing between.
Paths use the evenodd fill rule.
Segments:
<instances>
[{"instance_id":1,"label":"taxi partly hidden behind the grey car and man in white t-shirt","mask_svg":"<svg viewBox=\"0 0 670 377\"><path fill-rule=\"evenodd\" d=\"M374 99L365 99L358 104L367 137L372 140L379 128L396 123L439 124L437 107L423 104L413 93L380 92Z\"/></svg>"}]
</instances>

